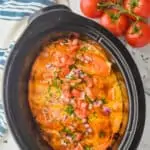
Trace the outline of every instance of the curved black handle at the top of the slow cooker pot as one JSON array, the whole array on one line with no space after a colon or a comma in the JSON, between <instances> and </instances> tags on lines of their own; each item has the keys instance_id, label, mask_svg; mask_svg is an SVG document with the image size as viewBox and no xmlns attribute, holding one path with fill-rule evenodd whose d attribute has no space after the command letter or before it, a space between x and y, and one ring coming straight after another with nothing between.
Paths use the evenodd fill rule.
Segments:
<instances>
[{"instance_id":1,"label":"curved black handle at the top of the slow cooker pot","mask_svg":"<svg viewBox=\"0 0 150 150\"><path fill-rule=\"evenodd\" d=\"M50 2L50 5L42 8L41 10L35 12L32 16L30 16L30 18L28 19L28 24L32 23L33 20L35 20L36 18L38 18L39 16L52 12L52 11L60 11L60 10L65 10L65 11L71 11L71 9L65 5L61 5L61 4L55 4L53 2Z\"/></svg>"}]
</instances>

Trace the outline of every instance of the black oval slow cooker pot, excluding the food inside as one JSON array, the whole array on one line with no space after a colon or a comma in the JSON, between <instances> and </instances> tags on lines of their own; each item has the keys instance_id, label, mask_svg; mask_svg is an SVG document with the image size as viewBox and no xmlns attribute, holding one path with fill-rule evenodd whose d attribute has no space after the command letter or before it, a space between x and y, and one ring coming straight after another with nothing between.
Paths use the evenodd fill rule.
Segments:
<instances>
[{"instance_id":1,"label":"black oval slow cooker pot, excluding the food inside","mask_svg":"<svg viewBox=\"0 0 150 150\"><path fill-rule=\"evenodd\" d=\"M3 97L10 129L22 150L51 150L41 138L28 105L28 80L43 43L60 33L77 32L101 44L120 70L129 97L129 117L120 150L136 149L145 123L145 96L135 62L125 46L96 22L73 13L63 5L37 12L12 50L4 74Z\"/></svg>"}]
</instances>

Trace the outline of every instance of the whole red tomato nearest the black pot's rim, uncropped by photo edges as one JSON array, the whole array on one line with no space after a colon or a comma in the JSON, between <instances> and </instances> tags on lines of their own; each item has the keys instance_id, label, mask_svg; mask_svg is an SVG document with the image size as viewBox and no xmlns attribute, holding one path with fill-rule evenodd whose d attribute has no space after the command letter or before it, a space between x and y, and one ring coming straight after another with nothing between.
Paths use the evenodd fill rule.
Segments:
<instances>
[{"instance_id":1,"label":"whole red tomato nearest the black pot's rim, uncropped by photo edges","mask_svg":"<svg viewBox=\"0 0 150 150\"><path fill-rule=\"evenodd\" d=\"M125 15L119 15L117 10L110 9L100 18L100 24L116 36L125 33L128 27L128 18Z\"/></svg>"}]
</instances>

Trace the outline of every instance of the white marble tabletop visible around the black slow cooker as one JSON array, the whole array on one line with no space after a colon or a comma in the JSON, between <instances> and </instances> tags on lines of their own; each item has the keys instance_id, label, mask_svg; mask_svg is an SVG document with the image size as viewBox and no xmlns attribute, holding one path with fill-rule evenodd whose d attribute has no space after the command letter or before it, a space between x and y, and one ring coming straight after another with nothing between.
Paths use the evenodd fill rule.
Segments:
<instances>
[{"instance_id":1,"label":"white marble tabletop visible around the black slow cooker","mask_svg":"<svg viewBox=\"0 0 150 150\"><path fill-rule=\"evenodd\" d=\"M63 3L66 0L58 0L59 2ZM66 3L66 2L65 2ZM81 14L79 9L79 0L70 0L70 7L72 10L78 14ZM66 3L67 4L67 3ZM138 68L140 70L140 73L142 76L146 76L145 79L143 79L145 90L147 92L150 92L150 60L143 61L143 57L147 58L150 56L150 46L144 47L142 49L132 49L131 47L127 46L131 54L133 55ZM143 57L141 57L143 55ZM139 144L138 150L150 150L150 96L146 94L146 108L147 108L147 117L146 117L146 124L145 129L143 133L142 140ZM0 144L0 150L19 150L18 145L14 141L11 133L5 137L4 141Z\"/></svg>"}]
</instances>

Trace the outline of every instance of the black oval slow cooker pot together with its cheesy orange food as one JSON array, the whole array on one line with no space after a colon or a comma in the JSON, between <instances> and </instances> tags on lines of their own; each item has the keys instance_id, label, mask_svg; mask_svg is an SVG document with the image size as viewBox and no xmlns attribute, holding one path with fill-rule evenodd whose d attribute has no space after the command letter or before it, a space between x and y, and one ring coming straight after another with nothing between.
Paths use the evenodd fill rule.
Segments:
<instances>
[{"instance_id":1,"label":"black oval slow cooker pot together with its cheesy orange food","mask_svg":"<svg viewBox=\"0 0 150 150\"><path fill-rule=\"evenodd\" d=\"M22 150L127 150L142 136L145 97L132 57L63 5L29 21L8 59L3 96Z\"/></svg>"}]
</instances>

